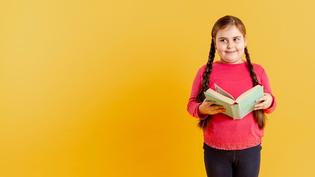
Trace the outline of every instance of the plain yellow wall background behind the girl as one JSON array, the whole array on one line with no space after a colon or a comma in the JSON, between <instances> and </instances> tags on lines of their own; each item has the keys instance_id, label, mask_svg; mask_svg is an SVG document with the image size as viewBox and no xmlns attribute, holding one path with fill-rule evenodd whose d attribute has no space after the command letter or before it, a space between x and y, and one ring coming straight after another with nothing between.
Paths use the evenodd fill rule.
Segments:
<instances>
[{"instance_id":1,"label":"plain yellow wall background behind the girl","mask_svg":"<svg viewBox=\"0 0 315 177\"><path fill-rule=\"evenodd\" d=\"M225 15L278 107L260 176L312 176L313 1L1 1L0 176L206 176L186 111Z\"/></svg>"}]
</instances>

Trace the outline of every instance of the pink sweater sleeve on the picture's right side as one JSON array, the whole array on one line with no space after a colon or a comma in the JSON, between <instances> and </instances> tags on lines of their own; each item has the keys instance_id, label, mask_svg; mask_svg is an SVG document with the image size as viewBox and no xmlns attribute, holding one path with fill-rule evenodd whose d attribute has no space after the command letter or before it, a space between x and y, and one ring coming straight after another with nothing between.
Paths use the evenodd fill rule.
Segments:
<instances>
[{"instance_id":1,"label":"pink sweater sleeve on the picture's right side","mask_svg":"<svg viewBox=\"0 0 315 177\"><path fill-rule=\"evenodd\" d=\"M262 70L262 74L261 74L261 77L260 77L260 83L262 85L264 85L264 92L270 94L271 97L272 97L272 104L271 104L271 106L264 110L265 113L270 114L270 113L275 111L275 109L277 107L277 102L276 102L276 98L272 94L270 81L269 81L268 75L267 75L267 73L266 73L266 71L264 69Z\"/></svg>"}]
</instances>

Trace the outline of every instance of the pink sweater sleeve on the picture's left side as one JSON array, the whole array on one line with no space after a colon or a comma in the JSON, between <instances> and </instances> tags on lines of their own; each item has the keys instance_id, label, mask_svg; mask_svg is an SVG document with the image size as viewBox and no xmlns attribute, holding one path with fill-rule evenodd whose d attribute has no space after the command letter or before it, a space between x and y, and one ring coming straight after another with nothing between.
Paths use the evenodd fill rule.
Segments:
<instances>
[{"instance_id":1,"label":"pink sweater sleeve on the picture's left side","mask_svg":"<svg viewBox=\"0 0 315 177\"><path fill-rule=\"evenodd\" d=\"M198 108L199 105L201 105L201 103L198 103L196 100L196 96L198 95L198 93L201 91L201 86L202 86L202 75L203 72L205 70L205 66L201 67L196 76L195 79L193 81L193 85L192 85L192 89L191 89L191 94L190 94L190 98L187 104L187 111L188 113L198 119L206 119L207 118L207 114L206 115L201 115L199 114Z\"/></svg>"}]
</instances>

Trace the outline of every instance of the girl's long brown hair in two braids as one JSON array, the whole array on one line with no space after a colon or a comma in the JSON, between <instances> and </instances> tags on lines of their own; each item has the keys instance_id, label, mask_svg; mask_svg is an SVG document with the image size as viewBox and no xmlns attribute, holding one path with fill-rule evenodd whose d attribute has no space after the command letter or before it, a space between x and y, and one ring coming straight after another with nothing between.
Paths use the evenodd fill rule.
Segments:
<instances>
[{"instance_id":1,"label":"girl's long brown hair in two braids","mask_svg":"<svg viewBox=\"0 0 315 177\"><path fill-rule=\"evenodd\" d=\"M240 30L240 32L243 34L243 36L245 37L246 35L245 26L243 22L236 17L233 17L233 16L222 17L218 21L216 21L216 23L213 25L212 32L211 32L212 39L211 39L208 62L206 64L206 69L202 76L203 78L202 88L201 88L200 93L196 96L196 100L199 103L203 102L203 100L205 99L203 92L206 92L208 90L209 78L210 78L210 73L212 71L212 64L213 64L214 55L215 55L214 39L216 37L216 34L219 30L224 29L228 26L232 26L232 25L235 25L235 27L237 27ZM254 66L251 63L251 58L250 58L250 54L248 53L247 47L245 47L244 53L245 53L246 60L250 68L249 71L251 73L253 86L258 85L259 82L256 77ZM263 129L266 124L266 116L265 116L264 110L254 111L254 117L255 117L255 121L258 123L259 128ZM210 118L211 118L211 115L209 115L206 119L199 120L198 127L202 128L203 130L206 130L211 123Z\"/></svg>"}]
</instances>

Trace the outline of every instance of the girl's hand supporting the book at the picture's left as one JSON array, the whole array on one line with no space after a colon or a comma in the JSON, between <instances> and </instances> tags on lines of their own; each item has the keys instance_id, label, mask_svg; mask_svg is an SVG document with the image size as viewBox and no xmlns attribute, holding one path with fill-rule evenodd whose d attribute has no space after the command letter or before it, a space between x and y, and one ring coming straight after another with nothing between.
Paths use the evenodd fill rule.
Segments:
<instances>
[{"instance_id":1,"label":"girl's hand supporting the book at the picture's left","mask_svg":"<svg viewBox=\"0 0 315 177\"><path fill-rule=\"evenodd\" d=\"M225 112L225 109L223 108L223 106L214 105L214 104L215 104L214 101L208 102L207 99L204 99L202 104L199 105L199 108L198 108L199 113L202 115L204 114L213 115L213 114Z\"/></svg>"}]
</instances>

